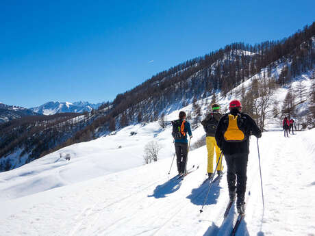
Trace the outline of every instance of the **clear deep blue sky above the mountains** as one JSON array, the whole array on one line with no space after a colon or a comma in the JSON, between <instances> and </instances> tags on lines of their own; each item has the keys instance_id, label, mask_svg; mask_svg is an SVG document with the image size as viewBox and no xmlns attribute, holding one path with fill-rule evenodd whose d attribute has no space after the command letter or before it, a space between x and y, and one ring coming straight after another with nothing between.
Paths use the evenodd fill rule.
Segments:
<instances>
[{"instance_id":1,"label":"clear deep blue sky above the mountains","mask_svg":"<svg viewBox=\"0 0 315 236\"><path fill-rule=\"evenodd\" d=\"M315 1L0 1L0 102L115 98L231 42L290 36Z\"/></svg>"}]
</instances>

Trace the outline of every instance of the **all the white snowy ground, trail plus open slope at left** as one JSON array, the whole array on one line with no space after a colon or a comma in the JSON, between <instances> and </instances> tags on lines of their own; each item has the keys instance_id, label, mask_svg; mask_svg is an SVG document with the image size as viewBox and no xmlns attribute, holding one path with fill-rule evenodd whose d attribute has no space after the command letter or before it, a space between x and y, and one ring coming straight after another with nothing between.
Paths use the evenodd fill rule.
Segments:
<instances>
[{"instance_id":1,"label":"all the white snowy ground, trail plus open slope at left","mask_svg":"<svg viewBox=\"0 0 315 236\"><path fill-rule=\"evenodd\" d=\"M197 171L181 182L168 181L173 157L170 133L170 127L160 131L156 123L127 127L1 173L1 235L229 235L236 213L233 208L223 224L226 176L214 185L200 214L207 193L207 186L200 185L205 179L206 148L189 153L188 168L198 165ZM198 128L193 135L197 139L203 130ZM238 235L314 233L314 135L315 129L289 138L282 131L263 134L265 211L257 144L251 138L247 215ZM163 146L162 159L142 166L143 146L151 140ZM59 153L71 154L71 160L59 159ZM175 174L173 166L169 176ZM50 190L42 192L46 189Z\"/></svg>"}]
</instances>

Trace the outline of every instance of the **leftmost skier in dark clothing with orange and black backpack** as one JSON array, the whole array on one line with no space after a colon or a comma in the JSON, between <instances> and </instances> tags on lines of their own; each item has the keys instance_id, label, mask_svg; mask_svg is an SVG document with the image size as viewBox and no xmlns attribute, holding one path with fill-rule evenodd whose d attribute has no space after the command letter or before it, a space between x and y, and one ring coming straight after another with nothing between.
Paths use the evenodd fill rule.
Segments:
<instances>
[{"instance_id":1,"label":"leftmost skier in dark clothing with orange and black backpack","mask_svg":"<svg viewBox=\"0 0 315 236\"><path fill-rule=\"evenodd\" d=\"M187 133L192 138L192 131L190 129L190 123L185 120L186 113L179 112L179 120L172 121L173 132L172 135L175 139L175 151L177 157L177 170L178 174L186 173L186 163L188 155L188 139Z\"/></svg>"}]
</instances>

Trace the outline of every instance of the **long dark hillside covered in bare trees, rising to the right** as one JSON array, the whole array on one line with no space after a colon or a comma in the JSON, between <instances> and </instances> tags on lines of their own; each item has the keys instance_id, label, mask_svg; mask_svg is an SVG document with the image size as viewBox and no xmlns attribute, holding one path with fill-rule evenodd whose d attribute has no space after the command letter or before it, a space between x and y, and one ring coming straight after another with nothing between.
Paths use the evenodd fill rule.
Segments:
<instances>
[{"instance_id":1,"label":"long dark hillside covered in bare trees, rising to the right","mask_svg":"<svg viewBox=\"0 0 315 236\"><path fill-rule=\"evenodd\" d=\"M82 116L71 114L3 124L0 127L0 170L23 165L23 161L13 161L19 164L12 164L12 159L25 159L27 163L58 148L95 139L129 124L157 120L172 109L180 109L218 92L220 96L231 95L233 88L249 79L254 89L252 92L246 88L241 91L242 100L250 101L244 103L244 107L260 119L263 127L264 114L257 111L257 103L261 104L268 96L264 93L266 88L271 88L272 92L273 88L288 87L295 77L303 73L312 74L314 65L315 23L283 40L255 45L229 44L224 49L164 70L136 88L118 94L114 101L104 103L98 110ZM298 104L293 104L290 97L287 100L288 107L273 104L275 117L279 113L292 114L292 109ZM267 101L264 105L270 103ZM307 115L314 120L314 107L312 109L313 113L310 113L307 108ZM49 124L51 120L53 122Z\"/></svg>"}]
</instances>

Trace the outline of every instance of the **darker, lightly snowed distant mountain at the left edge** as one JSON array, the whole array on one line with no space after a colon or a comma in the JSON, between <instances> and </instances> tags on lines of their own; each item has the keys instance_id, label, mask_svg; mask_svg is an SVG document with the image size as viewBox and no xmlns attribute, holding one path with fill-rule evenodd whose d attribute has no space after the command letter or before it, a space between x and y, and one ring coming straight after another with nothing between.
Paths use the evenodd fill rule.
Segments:
<instances>
[{"instance_id":1,"label":"darker, lightly snowed distant mountain at the left edge","mask_svg":"<svg viewBox=\"0 0 315 236\"><path fill-rule=\"evenodd\" d=\"M23 116L36 116L36 112L24 107L18 107L14 105L5 105L0 103L0 123L10 120L18 119Z\"/></svg>"}]
</instances>

